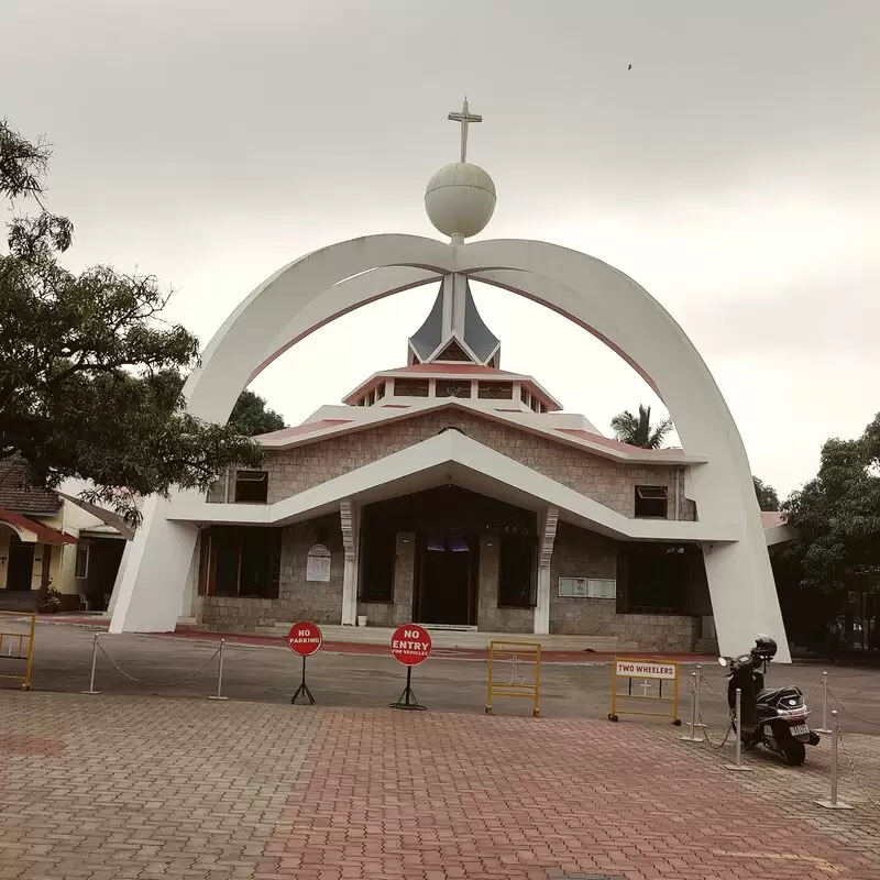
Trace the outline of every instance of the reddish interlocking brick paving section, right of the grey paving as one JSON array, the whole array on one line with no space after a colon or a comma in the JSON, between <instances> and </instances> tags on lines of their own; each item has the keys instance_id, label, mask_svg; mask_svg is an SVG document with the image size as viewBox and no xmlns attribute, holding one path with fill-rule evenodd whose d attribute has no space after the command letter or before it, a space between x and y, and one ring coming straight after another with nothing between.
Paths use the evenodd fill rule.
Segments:
<instances>
[{"instance_id":1,"label":"reddish interlocking brick paving section, right of the grey paving","mask_svg":"<svg viewBox=\"0 0 880 880\"><path fill-rule=\"evenodd\" d=\"M312 752L258 880L880 873L876 811L818 815L798 771L746 787L657 728L348 711Z\"/></svg>"}]
</instances>

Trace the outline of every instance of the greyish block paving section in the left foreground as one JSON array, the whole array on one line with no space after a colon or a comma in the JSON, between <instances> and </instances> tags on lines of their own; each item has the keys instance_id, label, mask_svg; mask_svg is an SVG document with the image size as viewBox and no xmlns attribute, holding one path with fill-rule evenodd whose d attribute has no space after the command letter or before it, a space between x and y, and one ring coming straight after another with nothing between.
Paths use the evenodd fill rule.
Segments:
<instances>
[{"instance_id":1,"label":"greyish block paving section in the left foreground","mask_svg":"<svg viewBox=\"0 0 880 880\"><path fill-rule=\"evenodd\" d=\"M0 691L0 878L244 880L316 715Z\"/></svg>"}]
</instances>

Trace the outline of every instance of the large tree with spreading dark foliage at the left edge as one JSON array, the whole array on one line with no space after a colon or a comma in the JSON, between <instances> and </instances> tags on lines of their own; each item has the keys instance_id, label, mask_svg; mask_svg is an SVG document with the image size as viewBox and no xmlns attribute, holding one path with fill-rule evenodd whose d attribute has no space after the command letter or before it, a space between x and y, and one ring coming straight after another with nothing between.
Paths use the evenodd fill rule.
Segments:
<instances>
[{"instance_id":1,"label":"large tree with spreading dark foliage at the left edge","mask_svg":"<svg viewBox=\"0 0 880 880\"><path fill-rule=\"evenodd\" d=\"M163 320L156 278L62 265L73 224L45 205L50 155L0 121L0 197L37 209L13 216L0 251L0 461L23 459L50 488L84 480L89 501L136 521L135 496L205 491L231 465L258 466L261 450L235 422L186 413L180 375L199 344Z\"/></svg>"}]
</instances>

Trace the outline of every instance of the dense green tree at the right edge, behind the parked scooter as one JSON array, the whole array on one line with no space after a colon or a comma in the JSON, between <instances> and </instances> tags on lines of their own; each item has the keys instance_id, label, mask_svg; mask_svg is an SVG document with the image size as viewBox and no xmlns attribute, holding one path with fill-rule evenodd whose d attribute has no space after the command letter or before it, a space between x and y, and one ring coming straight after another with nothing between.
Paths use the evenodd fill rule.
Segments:
<instances>
[{"instance_id":1,"label":"dense green tree at the right edge, behind the parked scooter","mask_svg":"<svg viewBox=\"0 0 880 880\"><path fill-rule=\"evenodd\" d=\"M880 572L880 414L856 440L828 440L818 474L783 508L803 585L844 591Z\"/></svg>"}]
</instances>

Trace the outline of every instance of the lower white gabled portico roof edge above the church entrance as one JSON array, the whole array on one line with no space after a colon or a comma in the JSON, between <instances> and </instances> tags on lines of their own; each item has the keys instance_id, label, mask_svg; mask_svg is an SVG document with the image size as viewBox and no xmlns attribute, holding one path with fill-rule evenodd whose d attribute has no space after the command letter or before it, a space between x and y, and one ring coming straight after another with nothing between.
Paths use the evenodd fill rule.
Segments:
<instances>
[{"instance_id":1,"label":"lower white gabled portico roof edge above the church entrance","mask_svg":"<svg viewBox=\"0 0 880 880\"><path fill-rule=\"evenodd\" d=\"M168 518L283 526L338 510L344 499L365 504L448 483L519 507L557 507L561 519L617 540L730 542L741 537L737 522L630 519L457 430L443 431L275 504L209 504L189 497L177 502Z\"/></svg>"}]
</instances>

